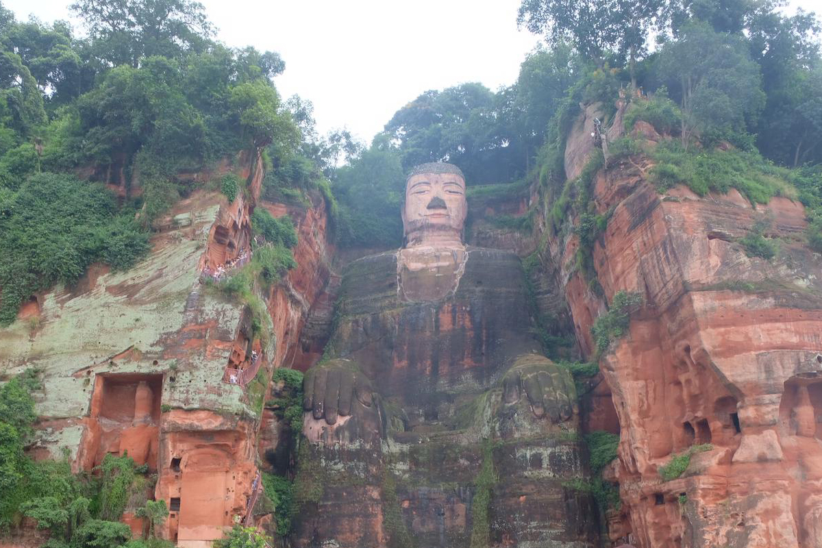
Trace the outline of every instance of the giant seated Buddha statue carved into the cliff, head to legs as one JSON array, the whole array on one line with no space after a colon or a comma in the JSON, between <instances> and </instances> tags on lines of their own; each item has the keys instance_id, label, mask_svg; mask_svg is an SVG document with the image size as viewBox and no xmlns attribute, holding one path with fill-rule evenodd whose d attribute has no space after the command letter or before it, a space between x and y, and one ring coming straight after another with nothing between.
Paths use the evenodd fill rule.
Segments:
<instances>
[{"instance_id":1,"label":"giant seated Buddha statue carved into the cliff, head to legs","mask_svg":"<svg viewBox=\"0 0 822 548\"><path fill-rule=\"evenodd\" d=\"M539 353L520 259L465 245L467 211L459 168L418 166L404 247L345 269L305 375L298 546L592 546L573 380Z\"/></svg>"}]
</instances>

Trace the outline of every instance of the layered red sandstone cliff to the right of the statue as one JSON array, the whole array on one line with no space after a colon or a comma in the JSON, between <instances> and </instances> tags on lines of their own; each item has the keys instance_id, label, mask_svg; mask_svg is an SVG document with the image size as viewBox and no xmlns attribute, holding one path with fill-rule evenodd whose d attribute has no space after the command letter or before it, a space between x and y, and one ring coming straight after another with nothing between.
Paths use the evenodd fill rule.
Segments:
<instances>
[{"instance_id":1,"label":"layered red sandstone cliff to the right of the statue","mask_svg":"<svg viewBox=\"0 0 822 548\"><path fill-rule=\"evenodd\" d=\"M568 140L569 177L591 149L594 114L583 113ZM593 182L598 214L612 211L593 246L593 274L607 302L618 291L644 298L629 333L603 354L606 385L589 401L589 424L615 431L615 411L621 434L608 471L622 500L608 516L612 540L822 546L822 260L804 244L803 208L779 197L752 206L736 190L659 194L650 167L636 155ZM738 242L758 221L778 238L773 260L746 256ZM543 258L561 265L556 276L590 356L605 302L570 269L578 246L570 232L551 235ZM709 446L663 481L660 467L693 444Z\"/></svg>"}]
</instances>

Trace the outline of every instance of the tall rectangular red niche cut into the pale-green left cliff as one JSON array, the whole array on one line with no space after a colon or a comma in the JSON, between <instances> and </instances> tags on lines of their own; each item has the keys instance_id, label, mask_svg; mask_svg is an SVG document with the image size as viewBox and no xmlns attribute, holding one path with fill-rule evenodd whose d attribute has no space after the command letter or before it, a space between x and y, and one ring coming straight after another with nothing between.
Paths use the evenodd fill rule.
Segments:
<instances>
[{"instance_id":1,"label":"tall rectangular red niche cut into the pale-green left cliff","mask_svg":"<svg viewBox=\"0 0 822 548\"><path fill-rule=\"evenodd\" d=\"M81 443L81 465L103 462L106 454L128 454L137 465L157 469L163 375L96 375L90 417Z\"/></svg>"}]
</instances>

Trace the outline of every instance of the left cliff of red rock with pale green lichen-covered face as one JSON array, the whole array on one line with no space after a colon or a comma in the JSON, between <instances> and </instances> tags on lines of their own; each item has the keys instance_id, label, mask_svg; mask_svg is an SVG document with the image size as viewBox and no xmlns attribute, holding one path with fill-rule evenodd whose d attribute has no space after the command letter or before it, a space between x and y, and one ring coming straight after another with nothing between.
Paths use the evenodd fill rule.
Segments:
<instances>
[{"instance_id":1,"label":"left cliff of red rock with pale green lichen-covered face","mask_svg":"<svg viewBox=\"0 0 822 548\"><path fill-rule=\"evenodd\" d=\"M0 330L5 374L42 371L35 457L61 458L67 448L76 470L126 452L147 464L159 477L155 497L170 509L161 534L178 546L210 546L235 515L247 516L272 371L298 353L329 273L319 200L291 212L299 267L267 292L254 289L270 311L267 337L255 336L249 307L202 283L203 269L249 245L262 171L259 161L243 165L249 198L229 204L195 191L159 223L150 256L135 268L95 265L76 287L39 295L21 313L35 320ZM139 532L131 511L124 519Z\"/></svg>"}]
</instances>

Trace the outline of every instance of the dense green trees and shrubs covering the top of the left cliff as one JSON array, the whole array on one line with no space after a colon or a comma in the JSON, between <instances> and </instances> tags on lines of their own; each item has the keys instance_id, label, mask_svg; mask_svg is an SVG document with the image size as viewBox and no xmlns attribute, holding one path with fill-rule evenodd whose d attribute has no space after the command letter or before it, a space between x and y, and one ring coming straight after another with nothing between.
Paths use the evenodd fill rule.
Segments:
<instances>
[{"instance_id":1,"label":"dense green trees and shrubs covering the top of the left cliff","mask_svg":"<svg viewBox=\"0 0 822 548\"><path fill-rule=\"evenodd\" d=\"M72 10L83 38L0 7L0 325L92 262L133 265L152 221L193 190L179 172L300 139L270 81L282 60L216 43L200 3L80 0ZM123 205L99 182L124 188ZM221 187L229 200L242 191L233 175Z\"/></svg>"}]
</instances>

